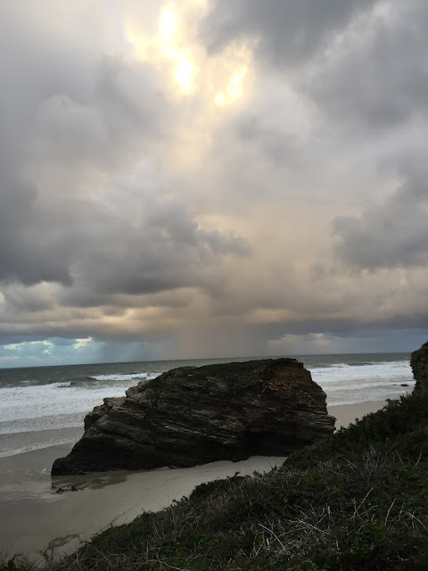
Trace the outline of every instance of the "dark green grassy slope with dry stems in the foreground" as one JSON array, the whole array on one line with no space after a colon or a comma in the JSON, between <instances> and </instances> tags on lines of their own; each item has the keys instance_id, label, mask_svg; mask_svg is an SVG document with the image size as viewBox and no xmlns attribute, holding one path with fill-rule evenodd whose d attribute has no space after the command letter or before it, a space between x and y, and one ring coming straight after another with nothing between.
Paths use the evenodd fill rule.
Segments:
<instances>
[{"instance_id":1,"label":"dark green grassy slope with dry stems in the foreground","mask_svg":"<svg viewBox=\"0 0 428 571\"><path fill-rule=\"evenodd\" d=\"M422 571L427 540L428 394L419 394L267 475L202 484L111 527L49 569Z\"/></svg>"}]
</instances>

